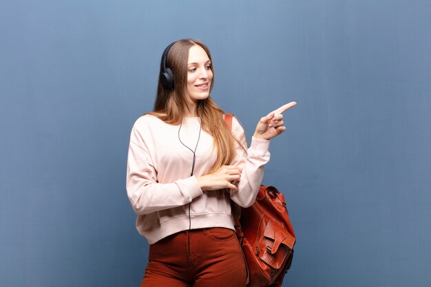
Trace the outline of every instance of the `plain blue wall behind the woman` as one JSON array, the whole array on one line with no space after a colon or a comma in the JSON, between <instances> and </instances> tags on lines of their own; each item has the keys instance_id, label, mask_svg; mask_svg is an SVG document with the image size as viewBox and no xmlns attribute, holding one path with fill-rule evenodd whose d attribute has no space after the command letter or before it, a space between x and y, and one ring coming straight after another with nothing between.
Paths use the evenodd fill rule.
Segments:
<instances>
[{"instance_id":1,"label":"plain blue wall behind the woman","mask_svg":"<svg viewBox=\"0 0 431 287\"><path fill-rule=\"evenodd\" d=\"M160 55L209 45L249 136L296 100L264 183L297 233L284 286L431 286L431 3L0 1L0 286L138 286L129 131Z\"/></svg>"}]
</instances>

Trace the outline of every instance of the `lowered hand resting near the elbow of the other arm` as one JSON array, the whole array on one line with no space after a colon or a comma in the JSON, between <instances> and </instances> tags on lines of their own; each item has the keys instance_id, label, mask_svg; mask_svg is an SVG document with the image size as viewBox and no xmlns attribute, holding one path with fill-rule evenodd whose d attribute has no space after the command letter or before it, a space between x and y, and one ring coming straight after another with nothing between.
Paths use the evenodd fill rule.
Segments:
<instances>
[{"instance_id":1,"label":"lowered hand resting near the elbow of the other arm","mask_svg":"<svg viewBox=\"0 0 431 287\"><path fill-rule=\"evenodd\" d=\"M218 189L232 189L238 191L238 187L232 182L238 182L241 178L242 169L235 165L223 165L217 171L198 178L202 191L215 191Z\"/></svg>"}]
</instances>

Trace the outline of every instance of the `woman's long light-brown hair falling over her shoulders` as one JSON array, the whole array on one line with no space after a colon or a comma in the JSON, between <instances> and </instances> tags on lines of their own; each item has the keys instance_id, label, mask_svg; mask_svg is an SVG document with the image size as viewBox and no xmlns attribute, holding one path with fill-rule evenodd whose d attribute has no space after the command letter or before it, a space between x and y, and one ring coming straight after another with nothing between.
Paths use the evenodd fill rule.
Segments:
<instances>
[{"instance_id":1,"label":"woman's long light-brown hair falling over her shoulders","mask_svg":"<svg viewBox=\"0 0 431 287\"><path fill-rule=\"evenodd\" d=\"M182 120L182 114L187 109L186 87L187 87L187 61L189 50L193 45L199 45L207 53L211 61L211 54L204 43L195 39L181 39L176 41L169 48L167 53L166 66L174 74L174 89L167 89L158 81L157 96L154 102L154 111L149 114L160 118L170 125L178 125ZM214 74L211 61L211 71ZM160 64L162 70L162 63ZM211 93L214 85L214 78L211 81L209 92ZM222 165L229 164L235 156L235 147L231 131L224 123L224 111L218 107L211 96L204 100L198 100L198 114L201 115L202 129L213 136L213 149L217 151L217 157L209 173L216 171ZM238 141L238 140L237 140Z\"/></svg>"}]
</instances>

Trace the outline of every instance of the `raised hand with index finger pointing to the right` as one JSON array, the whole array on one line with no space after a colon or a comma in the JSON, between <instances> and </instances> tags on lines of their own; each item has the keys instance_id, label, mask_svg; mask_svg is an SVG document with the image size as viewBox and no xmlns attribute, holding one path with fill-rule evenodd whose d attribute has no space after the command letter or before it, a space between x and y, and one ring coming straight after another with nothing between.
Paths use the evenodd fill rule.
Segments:
<instances>
[{"instance_id":1,"label":"raised hand with index finger pointing to the right","mask_svg":"<svg viewBox=\"0 0 431 287\"><path fill-rule=\"evenodd\" d=\"M283 122L282 112L290 109L295 106L296 102L291 102L282 107L279 107L275 111L271 111L267 116L264 116L260 119L259 123L257 123L255 134L253 137L260 138L262 140L271 140L271 138L275 138L279 134L282 134L283 131L286 130Z\"/></svg>"}]
</instances>

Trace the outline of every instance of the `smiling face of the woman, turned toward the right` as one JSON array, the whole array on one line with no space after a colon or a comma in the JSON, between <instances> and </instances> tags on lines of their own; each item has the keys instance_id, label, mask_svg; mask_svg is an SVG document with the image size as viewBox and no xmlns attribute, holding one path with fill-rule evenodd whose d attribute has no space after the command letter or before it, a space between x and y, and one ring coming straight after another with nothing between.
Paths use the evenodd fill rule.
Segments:
<instances>
[{"instance_id":1,"label":"smiling face of the woman, turned toward the right","mask_svg":"<svg viewBox=\"0 0 431 287\"><path fill-rule=\"evenodd\" d=\"M196 104L198 100L208 98L211 81L213 72L207 52L200 45L191 46L187 61L187 101Z\"/></svg>"}]
</instances>

